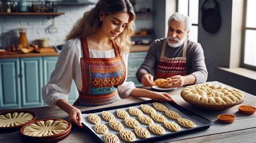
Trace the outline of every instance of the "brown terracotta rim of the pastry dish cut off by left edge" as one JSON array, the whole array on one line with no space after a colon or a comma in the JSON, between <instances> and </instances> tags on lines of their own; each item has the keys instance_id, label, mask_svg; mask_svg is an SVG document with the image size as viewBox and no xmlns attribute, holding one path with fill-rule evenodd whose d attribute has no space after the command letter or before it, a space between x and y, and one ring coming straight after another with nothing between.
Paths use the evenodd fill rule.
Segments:
<instances>
[{"instance_id":1,"label":"brown terracotta rim of the pastry dish cut off by left edge","mask_svg":"<svg viewBox=\"0 0 256 143\"><path fill-rule=\"evenodd\" d=\"M37 119L37 114L34 113L34 112L31 112L31 111L28 111L28 110L10 110L10 111L4 111L4 112L0 112L0 115L5 115L6 113L21 113L21 112L24 112L24 113L31 113L33 115L33 119L28 121L27 123L25 124L22 124L22 125L18 125L18 126L10 126L10 127L0 127L0 131L12 131L12 130L18 130L20 127L22 126L25 126L25 125L28 125L30 123L32 123L33 121L35 121Z\"/></svg>"}]
</instances>

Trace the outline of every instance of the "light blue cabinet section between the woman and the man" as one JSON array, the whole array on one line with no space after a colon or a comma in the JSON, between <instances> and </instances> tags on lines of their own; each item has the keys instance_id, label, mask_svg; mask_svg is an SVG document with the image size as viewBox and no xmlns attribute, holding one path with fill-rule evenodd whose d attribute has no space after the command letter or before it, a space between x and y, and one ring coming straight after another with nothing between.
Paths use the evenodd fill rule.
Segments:
<instances>
[{"instance_id":1,"label":"light blue cabinet section between the woman and the man","mask_svg":"<svg viewBox=\"0 0 256 143\"><path fill-rule=\"evenodd\" d=\"M142 65L147 52L132 52L129 54L128 59L128 71L127 71L127 82L134 82L136 87L141 87L142 84L137 80L136 72Z\"/></svg>"}]
</instances>

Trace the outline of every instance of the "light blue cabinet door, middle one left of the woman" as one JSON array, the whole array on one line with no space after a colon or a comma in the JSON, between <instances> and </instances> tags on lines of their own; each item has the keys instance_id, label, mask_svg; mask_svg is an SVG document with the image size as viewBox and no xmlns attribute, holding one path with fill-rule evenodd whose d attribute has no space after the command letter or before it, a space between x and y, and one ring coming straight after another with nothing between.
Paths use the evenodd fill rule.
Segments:
<instances>
[{"instance_id":1,"label":"light blue cabinet door, middle one left of the woman","mask_svg":"<svg viewBox=\"0 0 256 143\"><path fill-rule=\"evenodd\" d=\"M42 106L42 58L21 58L22 107Z\"/></svg>"}]
</instances>

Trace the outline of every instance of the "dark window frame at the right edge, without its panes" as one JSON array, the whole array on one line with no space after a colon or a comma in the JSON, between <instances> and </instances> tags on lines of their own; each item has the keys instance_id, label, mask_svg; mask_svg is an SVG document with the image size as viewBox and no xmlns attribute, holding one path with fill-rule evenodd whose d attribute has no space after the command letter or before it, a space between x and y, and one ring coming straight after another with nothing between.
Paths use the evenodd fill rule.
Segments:
<instances>
[{"instance_id":1,"label":"dark window frame at the right edge, without its panes","mask_svg":"<svg viewBox=\"0 0 256 143\"><path fill-rule=\"evenodd\" d=\"M188 0L189 1L189 0ZM246 18L247 18L247 0L245 0L245 4L244 4L244 24L242 27L242 60L241 60L241 67L243 68L247 68L247 69L252 69L252 70L256 70L256 66L252 66L252 65L247 65L244 61L245 58L245 33L246 30L255 30L256 28L251 28L251 27L246 27Z\"/></svg>"}]
</instances>

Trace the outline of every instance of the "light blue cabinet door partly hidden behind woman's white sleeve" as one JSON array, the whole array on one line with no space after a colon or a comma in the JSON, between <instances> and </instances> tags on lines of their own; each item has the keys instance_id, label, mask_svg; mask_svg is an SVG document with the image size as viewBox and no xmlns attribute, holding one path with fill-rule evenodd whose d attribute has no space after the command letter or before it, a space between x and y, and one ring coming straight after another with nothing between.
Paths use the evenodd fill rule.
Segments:
<instances>
[{"instance_id":1,"label":"light blue cabinet door partly hidden behind woman's white sleeve","mask_svg":"<svg viewBox=\"0 0 256 143\"><path fill-rule=\"evenodd\" d=\"M55 69L55 65L56 65L57 60L58 60L58 57L56 57L56 56L44 57L43 58L43 62L44 62L43 63L43 65L44 65L44 85L46 85L49 82L51 73ZM69 94L68 102L70 104L73 104L76 101L76 99L78 98L78 96L79 96L79 93L78 93L78 90L76 88L76 84L75 84L74 81L72 81L71 91L70 91L70 94Z\"/></svg>"}]
</instances>

